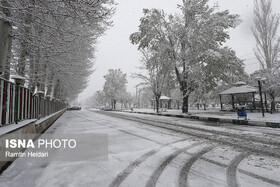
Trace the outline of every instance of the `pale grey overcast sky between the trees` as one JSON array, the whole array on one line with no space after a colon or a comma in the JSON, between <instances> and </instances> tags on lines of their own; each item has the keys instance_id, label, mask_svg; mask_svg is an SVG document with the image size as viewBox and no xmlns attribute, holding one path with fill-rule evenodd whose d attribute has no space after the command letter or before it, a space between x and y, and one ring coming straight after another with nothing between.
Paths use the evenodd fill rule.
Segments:
<instances>
[{"instance_id":1,"label":"pale grey overcast sky between the trees","mask_svg":"<svg viewBox=\"0 0 280 187\"><path fill-rule=\"evenodd\" d=\"M127 90L135 92L139 80L131 78L133 72L139 72L140 54L137 46L129 41L129 36L138 31L143 8L163 9L166 13L179 12L177 4L181 0L116 0L118 5L112 20L114 26L99 39L95 60L95 72L89 78L88 87L80 94L80 98L89 97L97 90L103 89L104 78L108 69L120 68L127 74ZM251 32L253 19L253 0L210 0L209 4L218 3L219 10L229 10L231 14L239 14L242 23L230 30L230 40L226 45L234 49L237 56L245 59L245 71L252 73L259 69L253 53L255 41ZM280 13L280 0L273 0L273 11Z\"/></svg>"}]
</instances>

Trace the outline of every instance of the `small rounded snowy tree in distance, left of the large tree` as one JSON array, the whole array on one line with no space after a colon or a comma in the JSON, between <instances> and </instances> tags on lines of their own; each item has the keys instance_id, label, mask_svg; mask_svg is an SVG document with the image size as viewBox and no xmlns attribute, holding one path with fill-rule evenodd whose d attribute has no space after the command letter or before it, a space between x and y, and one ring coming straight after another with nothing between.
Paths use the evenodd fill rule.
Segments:
<instances>
[{"instance_id":1,"label":"small rounded snowy tree in distance, left of the large tree","mask_svg":"<svg viewBox=\"0 0 280 187\"><path fill-rule=\"evenodd\" d=\"M126 94L126 74L122 73L120 69L109 69L104 78L103 92L105 97L110 99L112 109L116 109L117 100Z\"/></svg>"}]
</instances>

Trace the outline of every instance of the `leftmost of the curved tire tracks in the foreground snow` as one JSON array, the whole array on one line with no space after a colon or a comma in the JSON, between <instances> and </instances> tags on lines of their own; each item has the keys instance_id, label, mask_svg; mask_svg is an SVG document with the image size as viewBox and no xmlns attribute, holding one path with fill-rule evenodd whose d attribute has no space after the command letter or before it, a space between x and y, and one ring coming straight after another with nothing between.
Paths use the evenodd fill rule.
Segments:
<instances>
[{"instance_id":1,"label":"leftmost of the curved tire tracks in the foreground snow","mask_svg":"<svg viewBox=\"0 0 280 187\"><path fill-rule=\"evenodd\" d=\"M135 161L133 161L131 164L129 164L122 172L120 172L117 177L115 177L115 179L110 183L110 185L108 187L118 187L120 186L120 184L127 178L127 176L142 162L144 162L147 158L149 158L150 156L154 155L155 153L157 153L158 151L160 151L161 148L163 147L167 147L170 146L172 144L178 143L178 142L183 142L183 141L187 141L189 139L192 138L188 138L188 139L182 139L182 140L177 140L175 142L171 142L168 144L165 144L163 146L160 146L160 148L156 148L156 149L152 149L151 151L145 153L144 155L142 155L141 157L137 158Z\"/></svg>"}]
</instances>

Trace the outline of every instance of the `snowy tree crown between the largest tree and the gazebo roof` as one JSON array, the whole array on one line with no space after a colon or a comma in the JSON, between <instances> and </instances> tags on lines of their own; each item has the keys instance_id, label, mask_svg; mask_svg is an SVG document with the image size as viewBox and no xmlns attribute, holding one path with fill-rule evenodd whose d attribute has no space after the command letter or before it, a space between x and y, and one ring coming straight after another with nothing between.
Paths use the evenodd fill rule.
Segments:
<instances>
[{"instance_id":1,"label":"snowy tree crown between the largest tree and the gazebo roof","mask_svg":"<svg viewBox=\"0 0 280 187\"><path fill-rule=\"evenodd\" d=\"M210 101L211 92L218 86L222 84L233 86L245 76L242 60L238 59L235 51L228 47L216 52L209 51L205 55L205 61L208 64L197 77L201 81L193 92L194 100L198 103L202 102L204 106ZM219 93L215 94L219 98Z\"/></svg>"}]
</instances>

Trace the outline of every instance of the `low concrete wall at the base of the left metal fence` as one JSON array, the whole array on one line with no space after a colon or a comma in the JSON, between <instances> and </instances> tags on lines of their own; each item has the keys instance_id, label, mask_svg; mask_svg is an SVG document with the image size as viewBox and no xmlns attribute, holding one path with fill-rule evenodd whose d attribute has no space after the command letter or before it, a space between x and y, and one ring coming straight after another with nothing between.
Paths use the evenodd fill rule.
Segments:
<instances>
[{"instance_id":1,"label":"low concrete wall at the base of the left metal fence","mask_svg":"<svg viewBox=\"0 0 280 187\"><path fill-rule=\"evenodd\" d=\"M36 123L37 120L31 120L31 122L28 122L27 124L21 126L20 128L15 128L5 134L0 135L0 151L1 153L4 153L6 151L9 151L7 148L5 148L5 141L6 139L37 139L38 136L36 134L41 134L45 130L47 130L63 113L65 110L62 110L58 112L57 114L46 118L46 120L40 121L40 123ZM2 127L5 128L5 127ZM21 151L22 149L18 149L16 151ZM15 152L15 149L13 149L13 152ZM0 157L3 155L1 154ZM5 159L0 158L0 173L14 161L14 159L11 159L9 161L3 161Z\"/></svg>"}]
</instances>

